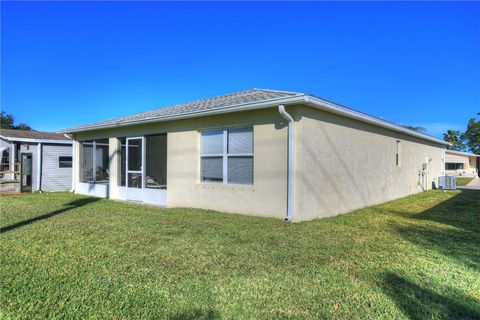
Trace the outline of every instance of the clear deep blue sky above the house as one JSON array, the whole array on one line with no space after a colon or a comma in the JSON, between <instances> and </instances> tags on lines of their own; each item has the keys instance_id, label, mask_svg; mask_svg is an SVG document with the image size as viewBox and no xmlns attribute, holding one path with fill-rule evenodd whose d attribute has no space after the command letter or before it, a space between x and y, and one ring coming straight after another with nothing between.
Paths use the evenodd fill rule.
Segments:
<instances>
[{"instance_id":1,"label":"clear deep blue sky above the house","mask_svg":"<svg viewBox=\"0 0 480 320\"><path fill-rule=\"evenodd\" d=\"M1 108L58 130L249 89L441 136L480 111L478 2L3 2Z\"/></svg>"}]
</instances>

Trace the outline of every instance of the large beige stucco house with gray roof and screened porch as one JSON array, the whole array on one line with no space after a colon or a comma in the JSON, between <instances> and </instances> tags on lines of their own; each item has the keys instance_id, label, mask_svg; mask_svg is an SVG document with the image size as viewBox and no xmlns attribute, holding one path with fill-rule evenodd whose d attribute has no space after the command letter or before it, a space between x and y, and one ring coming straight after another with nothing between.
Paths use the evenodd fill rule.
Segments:
<instances>
[{"instance_id":1,"label":"large beige stucco house with gray roof and screened porch","mask_svg":"<svg viewBox=\"0 0 480 320\"><path fill-rule=\"evenodd\" d=\"M428 190L447 142L303 93L252 89L63 131L74 190L288 221Z\"/></svg>"}]
</instances>

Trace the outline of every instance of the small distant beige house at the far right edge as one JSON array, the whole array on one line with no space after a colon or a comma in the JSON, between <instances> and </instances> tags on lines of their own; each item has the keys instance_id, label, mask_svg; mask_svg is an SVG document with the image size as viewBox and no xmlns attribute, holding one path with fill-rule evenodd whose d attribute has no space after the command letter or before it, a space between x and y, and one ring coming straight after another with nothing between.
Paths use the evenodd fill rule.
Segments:
<instances>
[{"instance_id":1,"label":"small distant beige house at the far right edge","mask_svg":"<svg viewBox=\"0 0 480 320\"><path fill-rule=\"evenodd\" d=\"M480 156L474 153L447 150L445 152L445 175L477 177Z\"/></svg>"}]
</instances>

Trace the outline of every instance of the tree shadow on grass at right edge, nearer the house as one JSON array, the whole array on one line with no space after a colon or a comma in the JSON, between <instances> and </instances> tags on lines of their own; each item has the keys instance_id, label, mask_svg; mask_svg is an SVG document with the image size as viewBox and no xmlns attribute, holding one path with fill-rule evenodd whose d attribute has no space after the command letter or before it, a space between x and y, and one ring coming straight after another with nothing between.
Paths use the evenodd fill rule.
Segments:
<instances>
[{"instance_id":1,"label":"tree shadow on grass at right edge, nearer the house","mask_svg":"<svg viewBox=\"0 0 480 320\"><path fill-rule=\"evenodd\" d=\"M480 269L480 191L463 190L420 213L393 214L413 222L393 226L405 240ZM419 220L434 223L415 223Z\"/></svg>"}]
</instances>

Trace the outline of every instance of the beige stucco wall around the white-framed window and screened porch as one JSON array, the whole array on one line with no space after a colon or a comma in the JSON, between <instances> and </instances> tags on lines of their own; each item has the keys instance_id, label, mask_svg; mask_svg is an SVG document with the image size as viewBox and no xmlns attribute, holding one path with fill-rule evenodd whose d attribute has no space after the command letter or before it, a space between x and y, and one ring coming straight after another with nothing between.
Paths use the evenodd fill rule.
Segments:
<instances>
[{"instance_id":1,"label":"beige stucco wall around the white-framed window and screened porch","mask_svg":"<svg viewBox=\"0 0 480 320\"><path fill-rule=\"evenodd\" d=\"M253 126L254 184L237 186L199 182L199 130ZM276 109L145 124L88 134L77 140L167 133L167 205L283 218L287 205L287 127ZM78 150L78 143L77 150ZM110 154L116 144L110 140ZM78 152L77 152L78 154ZM110 177L118 165L110 166ZM78 176L78 168L76 169ZM77 180L78 178L76 178ZM78 181L78 180L77 180ZM116 183L110 181L115 198Z\"/></svg>"}]
</instances>

